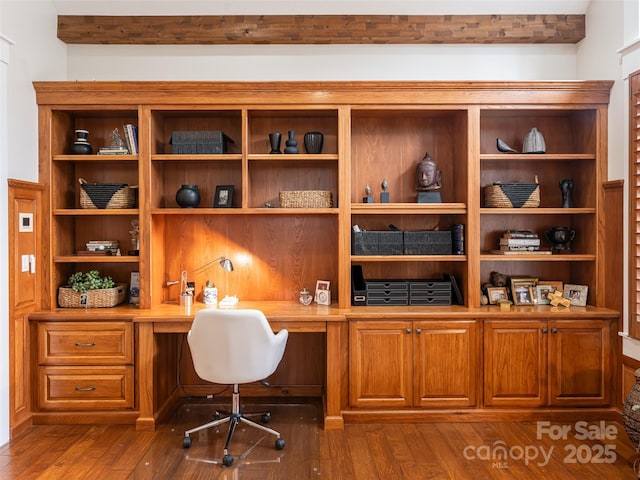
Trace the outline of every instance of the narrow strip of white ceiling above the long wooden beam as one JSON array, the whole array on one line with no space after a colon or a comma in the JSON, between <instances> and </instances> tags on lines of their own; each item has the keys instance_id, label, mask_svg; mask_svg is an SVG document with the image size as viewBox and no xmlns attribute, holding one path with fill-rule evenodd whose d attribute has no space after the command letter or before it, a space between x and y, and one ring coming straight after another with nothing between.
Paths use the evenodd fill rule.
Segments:
<instances>
[{"instance_id":1,"label":"narrow strip of white ceiling above the long wooden beam","mask_svg":"<svg viewBox=\"0 0 640 480\"><path fill-rule=\"evenodd\" d=\"M609 0L620 1L620 0ZM59 15L584 14L590 0L52 0Z\"/></svg>"}]
</instances>

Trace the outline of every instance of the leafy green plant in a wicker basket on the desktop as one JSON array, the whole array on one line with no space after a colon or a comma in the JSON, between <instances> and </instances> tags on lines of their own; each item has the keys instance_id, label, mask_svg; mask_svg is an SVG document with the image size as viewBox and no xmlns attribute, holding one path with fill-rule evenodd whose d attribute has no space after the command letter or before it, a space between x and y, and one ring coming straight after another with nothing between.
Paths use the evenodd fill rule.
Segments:
<instances>
[{"instance_id":1,"label":"leafy green plant in a wicker basket on the desktop","mask_svg":"<svg viewBox=\"0 0 640 480\"><path fill-rule=\"evenodd\" d=\"M58 290L61 307L114 307L126 298L126 284L116 284L98 270L76 272L67 280L67 286Z\"/></svg>"}]
</instances>

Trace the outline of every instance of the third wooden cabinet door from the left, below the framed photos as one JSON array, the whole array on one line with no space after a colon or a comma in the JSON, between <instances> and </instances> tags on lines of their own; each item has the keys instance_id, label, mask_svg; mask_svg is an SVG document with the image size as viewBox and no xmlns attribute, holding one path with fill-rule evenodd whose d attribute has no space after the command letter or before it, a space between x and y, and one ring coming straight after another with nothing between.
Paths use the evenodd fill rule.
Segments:
<instances>
[{"instance_id":1,"label":"third wooden cabinet door from the left, below the framed photos","mask_svg":"<svg viewBox=\"0 0 640 480\"><path fill-rule=\"evenodd\" d=\"M547 322L484 322L484 403L531 407L546 403Z\"/></svg>"}]
</instances>

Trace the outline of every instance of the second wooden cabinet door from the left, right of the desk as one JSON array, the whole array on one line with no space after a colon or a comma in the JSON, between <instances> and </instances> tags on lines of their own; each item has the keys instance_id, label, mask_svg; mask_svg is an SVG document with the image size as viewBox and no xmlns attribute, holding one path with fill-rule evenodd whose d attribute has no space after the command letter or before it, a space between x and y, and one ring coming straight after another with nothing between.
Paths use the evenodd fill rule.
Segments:
<instances>
[{"instance_id":1,"label":"second wooden cabinet door from the left, right of the desk","mask_svg":"<svg viewBox=\"0 0 640 480\"><path fill-rule=\"evenodd\" d=\"M421 407L477 403L479 336L475 320L414 324L414 399Z\"/></svg>"}]
</instances>

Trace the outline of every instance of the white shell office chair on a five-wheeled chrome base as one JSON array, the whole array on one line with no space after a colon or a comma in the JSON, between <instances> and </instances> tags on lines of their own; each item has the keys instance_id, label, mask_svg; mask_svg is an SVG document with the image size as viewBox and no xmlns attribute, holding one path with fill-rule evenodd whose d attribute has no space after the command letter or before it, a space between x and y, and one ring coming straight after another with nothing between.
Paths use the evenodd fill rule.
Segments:
<instances>
[{"instance_id":1,"label":"white shell office chair on a five-wheeled chrome base","mask_svg":"<svg viewBox=\"0 0 640 480\"><path fill-rule=\"evenodd\" d=\"M182 446L191 446L192 433L229 422L229 432L224 445L222 463L229 466L233 456L229 454L231 437L240 422L275 435L277 450L284 448L280 433L246 418L240 412L240 392L238 384L264 380L280 364L289 333L280 330L274 334L267 318L259 310L217 310L198 311L187 336L193 366L200 378L209 382L232 384L231 412L222 418L216 412L216 419L184 432ZM258 414L263 422L271 419L268 412Z\"/></svg>"}]
</instances>

